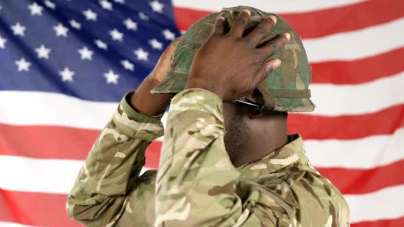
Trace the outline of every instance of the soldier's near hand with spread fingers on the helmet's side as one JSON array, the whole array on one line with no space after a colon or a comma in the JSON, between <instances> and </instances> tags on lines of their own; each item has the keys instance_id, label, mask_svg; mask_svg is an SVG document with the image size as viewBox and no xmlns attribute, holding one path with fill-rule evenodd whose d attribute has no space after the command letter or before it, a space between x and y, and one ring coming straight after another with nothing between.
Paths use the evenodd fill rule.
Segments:
<instances>
[{"instance_id":1,"label":"soldier's near hand with spread fingers on the helmet's side","mask_svg":"<svg viewBox=\"0 0 404 227\"><path fill-rule=\"evenodd\" d=\"M290 40L290 34L277 36L257 48L275 26L277 18L269 16L243 37L250 16L249 10L242 10L227 34L225 18L220 16L216 20L212 34L192 61L186 88L203 88L229 101L251 94L281 64L279 59L265 60Z\"/></svg>"}]
</instances>

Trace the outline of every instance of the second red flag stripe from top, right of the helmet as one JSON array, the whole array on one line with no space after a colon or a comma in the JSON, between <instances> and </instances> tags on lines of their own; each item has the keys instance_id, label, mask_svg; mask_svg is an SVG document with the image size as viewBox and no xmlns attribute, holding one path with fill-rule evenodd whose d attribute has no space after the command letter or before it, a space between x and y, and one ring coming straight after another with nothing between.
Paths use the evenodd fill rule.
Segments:
<instances>
[{"instance_id":1,"label":"second red flag stripe from top, right of the helmet","mask_svg":"<svg viewBox=\"0 0 404 227\"><path fill-rule=\"evenodd\" d=\"M396 75L404 70L403 56L404 47L355 61L311 64L311 83L357 84Z\"/></svg>"}]
</instances>

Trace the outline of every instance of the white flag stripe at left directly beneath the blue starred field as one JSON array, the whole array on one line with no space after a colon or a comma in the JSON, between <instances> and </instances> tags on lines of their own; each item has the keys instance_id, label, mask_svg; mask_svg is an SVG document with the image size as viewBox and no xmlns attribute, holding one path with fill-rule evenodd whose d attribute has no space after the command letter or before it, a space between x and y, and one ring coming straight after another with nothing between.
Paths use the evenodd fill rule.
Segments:
<instances>
[{"instance_id":1,"label":"white flag stripe at left directly beneath the blue starred field","mask_svg":"<svg viewBox=\"0 0 404 227\"><path fill-rule=\"evenodd\" d=\"M0 91L0 103L0 123L81 129L102 129L118 107L51 92Z\"/></svg>"}]
</instances>

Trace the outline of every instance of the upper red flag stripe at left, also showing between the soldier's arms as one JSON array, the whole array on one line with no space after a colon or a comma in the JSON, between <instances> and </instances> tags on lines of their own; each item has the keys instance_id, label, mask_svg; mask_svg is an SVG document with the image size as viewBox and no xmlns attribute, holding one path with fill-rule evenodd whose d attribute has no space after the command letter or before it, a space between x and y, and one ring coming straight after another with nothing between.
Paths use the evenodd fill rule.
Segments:
<instances>
[{"instance_id":1,"label":"upper red flag stripe at left, also showing between the soldier's arms","mask_svg":"<svg viewBox=\"0 0 404 227\"><path fill-rule=\"evenodd\" d=\"M14 126L0 124L0 155L37 159L84 160L100 131L64 126ZM21 142L23 138L24 142ZM161 142L147 150L147 166L157 167Z\"/></svg>"}]
</instances>

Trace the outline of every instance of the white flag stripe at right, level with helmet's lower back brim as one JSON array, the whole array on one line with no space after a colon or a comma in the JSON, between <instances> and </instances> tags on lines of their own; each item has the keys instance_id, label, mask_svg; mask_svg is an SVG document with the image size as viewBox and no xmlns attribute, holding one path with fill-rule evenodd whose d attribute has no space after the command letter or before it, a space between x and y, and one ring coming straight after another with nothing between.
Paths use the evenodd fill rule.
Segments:
<instances>
[{"instance_id":1,"label":"white flag stripe at right, level with helmet's lower back brim","mask_svg":"<svg viewBox=\"0 0 404 227\"><path fill-rule=\"evenodd\" d=\"M320 75L318 75L320 76ZM360 77L360 75L358 75ZM404 103L404 71L359 85L312 84L313 115L370 114Z\"/></svg>"}]
</instances>

